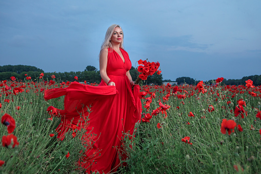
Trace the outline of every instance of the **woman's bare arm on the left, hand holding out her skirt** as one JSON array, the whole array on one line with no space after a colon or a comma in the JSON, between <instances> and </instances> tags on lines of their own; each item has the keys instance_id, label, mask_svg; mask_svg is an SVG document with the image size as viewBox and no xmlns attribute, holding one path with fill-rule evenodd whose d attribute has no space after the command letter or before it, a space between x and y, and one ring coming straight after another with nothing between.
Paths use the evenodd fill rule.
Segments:
<instances>
[{"instance_id":1,"label":"woman's bare arm on the left, hand holding out her skirt","mask_svg":"<svg viewBox=\"0 0 261 174\"><path fill-rule=\"evenodd\" d=\"M103 49L99 55L99 73L103 81L107 84L110 81L110 78L107 75L107 60L108 60L108 49ZM115 86L114 82L110 82L109 86Z\"/></svg>"}]
</instances>

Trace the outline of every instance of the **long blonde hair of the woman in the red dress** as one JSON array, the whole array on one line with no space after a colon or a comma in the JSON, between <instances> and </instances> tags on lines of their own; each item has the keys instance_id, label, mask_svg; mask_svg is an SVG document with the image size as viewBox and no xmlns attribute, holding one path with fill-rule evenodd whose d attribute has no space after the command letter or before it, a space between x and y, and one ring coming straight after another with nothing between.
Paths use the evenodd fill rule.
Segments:
<instances>
[{"instance_id":1,"label":"long blonde hair of the woman in the red dress","mask_svg":"<svg viewBox=\"0 0 261 174\"><path fill-rule=\"evenodd\" d=\"M112 33L113 33L113 31L114 31L114 29L115 29L116 27L122 28L121 26L119 26L119 25L117 25L117 24L113 24L113 25L111 25L111 26L108 28L108 30L107 30L107 32L106 32L106 34L105 34L104 42L103 42L102 47L101 47L101 51L102 51L103 49L105 49L105 48L110 48L110 52L112 52L113 49L112 49L112 45L111 45L110 39L111 39ZM124 35L123 35L123 36L124 36ZM119 44L119 48L124 49L124 44L123 44L123 42L122 42L121 44ZM101 54L101 51L99 52L100 54Z\"/></svg>"}]
</instances>

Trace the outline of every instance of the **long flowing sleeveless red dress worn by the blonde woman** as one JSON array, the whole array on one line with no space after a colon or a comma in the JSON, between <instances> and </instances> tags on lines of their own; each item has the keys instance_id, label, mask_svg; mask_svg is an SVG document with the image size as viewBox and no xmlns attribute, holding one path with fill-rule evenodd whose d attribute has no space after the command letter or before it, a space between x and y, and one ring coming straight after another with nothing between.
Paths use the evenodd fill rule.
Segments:
<instances>
[{"instance_id":1,"label":"long flowing sleeveless red dress worn by the blonde woman","mask_svg":"<svg viewBox=\"0 0 261 174\"><path fill-rule=\"evenodd\" d=\"M65 95L64 110L57 109L62 115L61 123L56 128L59 139L64 139L64 133L78 124L78 129L84 126L84 117L89 113L86 106L91 105L88 116L88 127L91 133L97 134L92 149L86 150L83 161L98 151L91 167L89 163L81 163L88 172L98 170L100 173L116 171L119 166L118 150L122 145L122 132L133 133L135 123L140 121L142 104L138 98L139 86L132 90L126 72L131 68L128 53L121 49L121 56L112 50L108 52L107 75L115 86L107 86L102 80L99 86L82 85L72 82L68 88L55 88L45 91L46 100ZM82 114L82 117L79 115ZM88 132L87 131L87 132ZM101 133L101 134L100 134ZM100 151L99 151L100 150ZM98 156L101 153L101 156ZM95 164L96 163L96 164Z\"/></svg>"}]
</instances>

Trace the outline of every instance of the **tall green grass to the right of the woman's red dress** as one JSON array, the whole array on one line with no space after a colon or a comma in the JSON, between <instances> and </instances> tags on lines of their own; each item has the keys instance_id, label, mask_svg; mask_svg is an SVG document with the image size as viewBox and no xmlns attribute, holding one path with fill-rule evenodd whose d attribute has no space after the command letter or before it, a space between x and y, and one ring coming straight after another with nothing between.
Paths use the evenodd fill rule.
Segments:
<instances>
[{"instance_id":1,"label":"tall green grass to the right of the woman's red dress","mask_svg":"<svg viewBox=\"0 0 261 174\"><path fill-rule=\"evenodd\" d=\"M257 109L260 109L260 97L249 95L248 90L251 89L240 86L236 88L238 93L234 98L231 98L234 93L225 89L225 86L208 88L204 94L197 94L194 87L186 86L183 90L189 94L194 92L192 96L178 99L176 95L171 95L166 102L171 106L166 119L164 114L159 113L152 117L150 123L140 123L134 140L126 139L129 159L125 172L234 173L237 172L237 167L238 172L244 170L244 173L260 173L261 136L258 130L261 128L261 122L256 118ZM159 106L158 99L171 91L166 87L162 87L160 91L163 89L166 90L164 94L156 92L159 98L152 99L149 111L144 108L143 113L156 109ZM260 91L260 88L258 89ZM155 87L150 89L151 92L156 90L158 89ZM240 94L239 91L244 93ZM220 96L216 95L217 92ZM221 93L228 98L222 99ZM256 93L260 96L260 92ZM248 115L246 117L245 114L244 119L240 114L234 117L234 109L239 99L246 102L245 110ZM228 105L228 101L234 105ZM209 112L209 105L215 110ZM189 112L195 117L189 117ZM242 125L243 131L239 132L235 128L230 136L228 133L222 134L220 127L223 119L234 120ZM159 129L156 126L158 123L162 126ZM187 136L190 137L192 145L182 142Z\"/></svg>"}]
</instances>

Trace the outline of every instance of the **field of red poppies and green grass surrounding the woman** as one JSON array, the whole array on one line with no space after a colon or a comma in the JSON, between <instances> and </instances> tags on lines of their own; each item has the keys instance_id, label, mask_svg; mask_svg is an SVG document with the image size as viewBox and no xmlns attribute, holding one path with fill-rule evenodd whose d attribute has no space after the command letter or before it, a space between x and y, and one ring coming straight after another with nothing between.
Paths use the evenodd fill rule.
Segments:
<instances>
[{"instance_id":1,"label":"field of red poppies and green grass surrounding the woman","mask_svg":"<svg viewBox=\"0 0 261 174\"><path fill-rule=\"evenodd\" d=\"M2 173L84 172L78 163L93 144L84 146L81 137L90 132L75 128L57 140L56 108L63 108L64 98L44 100L46 89L70 82L43 76L0 83ZM142 120L133 135L123 135L128 158L118 173L260 173L261 87L251 80L239 86L222 80L141 86Z\"/></svg>"}]
</instances>

